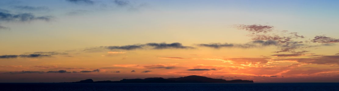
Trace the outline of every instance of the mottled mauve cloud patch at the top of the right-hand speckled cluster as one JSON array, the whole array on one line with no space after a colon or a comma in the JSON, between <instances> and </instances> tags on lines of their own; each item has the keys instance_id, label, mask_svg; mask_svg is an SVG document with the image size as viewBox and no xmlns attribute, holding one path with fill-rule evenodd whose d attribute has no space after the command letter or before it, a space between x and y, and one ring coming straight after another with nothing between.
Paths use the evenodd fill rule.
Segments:
<instances>
[{"instance_id":1,"label":"mottled mauve cloud patch at the top of the right-hand speckled cluster","mask_svg":"<svg viewBox=\"0 0 339 91\"><path fill-rule=\"evenodd\" d=\"M267 26L267 25L235 25L236 28L241 30L247 30L252 33L267 33L271 32L273 30L273 26Z\"/></svg>"}]
</instances>

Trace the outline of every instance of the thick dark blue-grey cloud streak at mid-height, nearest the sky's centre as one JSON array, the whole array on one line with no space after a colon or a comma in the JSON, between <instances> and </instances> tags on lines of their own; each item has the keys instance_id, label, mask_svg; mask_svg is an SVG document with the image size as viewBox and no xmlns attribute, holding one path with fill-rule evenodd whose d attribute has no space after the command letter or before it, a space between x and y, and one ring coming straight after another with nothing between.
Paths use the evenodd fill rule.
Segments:
<instances>
[{"instance_id":1,"label":"thick dark blue-grey cloud streak at mid-height, nearest the sky's centre","mask_svg":"<svg viewBox=\"0 0 339 91\"><path fill-rule=\"evenodd\" d=\"M194 49L194 47L182 46L181 43L147 43L147 46L154 47L153 49Z\"/></svg>"}]
</instances>

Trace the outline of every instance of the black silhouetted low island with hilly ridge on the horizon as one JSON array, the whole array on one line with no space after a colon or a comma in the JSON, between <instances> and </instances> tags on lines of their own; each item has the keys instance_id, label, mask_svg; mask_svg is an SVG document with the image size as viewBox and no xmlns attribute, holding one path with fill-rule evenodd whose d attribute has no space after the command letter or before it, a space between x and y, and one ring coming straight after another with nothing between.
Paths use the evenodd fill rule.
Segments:
<instances>
[{"instance_id":1,"label":"black silhouetted low island with hilly ridge on the horizon","mask_svg":"<svg viewBox=\"0 0 339 91\"><path fill-rule=\"evenodd\" d=\"M197 75L191 75L180 78L145 78L145 79L123 79L120 81L93 81L92 79L82 80L79 82L71 83L253 83L249 80L224 80L224 79L213 79Z\"/></svg>"}]
</instances>

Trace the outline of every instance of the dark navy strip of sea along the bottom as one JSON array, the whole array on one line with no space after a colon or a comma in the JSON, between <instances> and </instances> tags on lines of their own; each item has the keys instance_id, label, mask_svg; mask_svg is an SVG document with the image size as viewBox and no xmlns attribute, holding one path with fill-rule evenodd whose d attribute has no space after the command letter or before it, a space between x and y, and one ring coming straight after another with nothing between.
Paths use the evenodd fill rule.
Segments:
<instances>
[{"instance_id":1,"label":"dark navy strip of sea along the bottom","mask_svg":"<svg viewBox=\"0 0 339 91\"><path fill-rule=\"evenodd\" d=\"M0 91L339 91L339 83L0 83Z\"/></svg>"}]
</instances>

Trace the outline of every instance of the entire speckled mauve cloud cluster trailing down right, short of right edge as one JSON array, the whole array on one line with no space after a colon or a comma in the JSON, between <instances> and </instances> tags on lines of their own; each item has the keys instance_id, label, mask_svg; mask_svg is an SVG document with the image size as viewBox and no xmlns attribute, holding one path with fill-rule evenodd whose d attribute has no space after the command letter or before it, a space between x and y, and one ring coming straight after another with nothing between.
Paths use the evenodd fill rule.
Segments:
<instances>
[{"instance_id":1,"label":"entire speckled mauve cloud cluster trailing down right, short of right edge","mask_svg":"<svg viewBox=\"0 0 339 91\"><path fill-rule=\"evenodd\" d=\"M276 41L276 46L280 52L292 52L295 53L296 49L300 49L300 46L303 46L303 41L295 41L297 38L305 38L302 35L298 35L296 32L286 33L286 30L283 31L273 31L273 26L267 25L235 25L235 28L240 30L249 31L250 34L247 36L251 37L252 40L270 40Z\"/></svg>"}]
</instances>

